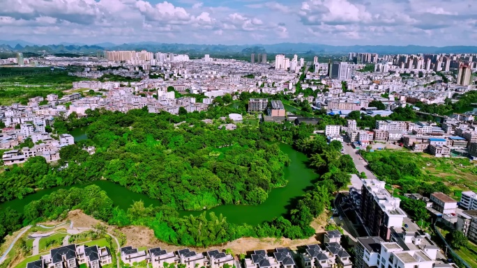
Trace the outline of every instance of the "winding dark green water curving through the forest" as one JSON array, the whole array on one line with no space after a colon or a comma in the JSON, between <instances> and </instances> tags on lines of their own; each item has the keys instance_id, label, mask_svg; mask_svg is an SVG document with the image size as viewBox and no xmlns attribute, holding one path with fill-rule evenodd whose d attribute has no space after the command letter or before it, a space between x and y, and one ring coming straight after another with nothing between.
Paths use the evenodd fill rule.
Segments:
<instances>
[{"instance_id":1,"label":"winding dark green water curving through the forest","mask_svg":"<svg viewBox=\"0 0 477 268\"><path fill-rule=\"evenodd\" d=\"M87 139L85 128L75 129L70 132L75 136L75 141ZM270 221L271 219L285 214L289 205L294 198L301 196L307 187L312 186L312 180L317 178L317 174L312 169L307 168L305 162L308 158L301 152L293 150L290 145L280 143L280 149L287 153L292 160L292 163L285 167L285 178L288 184L285 187L273 189L269 194L267 200L261 205L220 205L213 207L210 210L202 211L181 211L181 216L188 216L190 214L198 215L204 211L207 213L214 212L216 215L222 214L227 217L230 223L242 224L248 223L250 225L257 225L263 221ZM86 187L86 185L95 184L106 191L107 196L112 199L114 205L126 210L134 201L142 200L144 205L161 205L156 199L149 198L146 194L138 194L122 187L119 184L110 182L108 180L98 180L90 184L75 185L75 187ZM25 196L23 199L10 200L0 204L1 208L11 207L14 210L21 212L24 205L27 205L32 200L38 200L45 194L51 194L57 189L68 189L70 187L54 187L52 189L43 189L37 191L35 194Z\"/></svg>"}]
</instances>

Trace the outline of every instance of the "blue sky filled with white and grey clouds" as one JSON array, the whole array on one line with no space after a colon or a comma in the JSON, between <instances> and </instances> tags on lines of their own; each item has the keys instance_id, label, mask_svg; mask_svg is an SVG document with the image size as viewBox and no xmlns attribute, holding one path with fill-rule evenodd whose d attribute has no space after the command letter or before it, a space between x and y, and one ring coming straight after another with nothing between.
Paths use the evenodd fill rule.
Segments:
<instances>
[{"instance_id":1,"label":"blue sky filled with white and grey clouds","mask_svg":"<svg viewBox=\"0 0 477 268\"><path fill-rule=\"evenodd\" d=\"M0 0L1 39L476 45L475 0Z\"/></svg>"}]
</instances>

